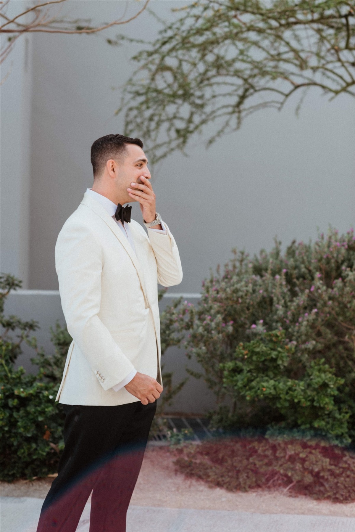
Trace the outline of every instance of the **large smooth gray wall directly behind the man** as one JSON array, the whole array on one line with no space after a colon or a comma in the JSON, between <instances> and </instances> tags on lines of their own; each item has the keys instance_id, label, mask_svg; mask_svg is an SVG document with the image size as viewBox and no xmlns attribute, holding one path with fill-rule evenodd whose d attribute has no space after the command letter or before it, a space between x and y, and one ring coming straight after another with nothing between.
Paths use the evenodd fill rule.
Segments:
<instances>
[{"instance_id":1,"label":"large smooth gray wall directly behind the man","mask_svg":"<svg viewBox=\"0 0 355 532\"><path fill-rule=\"evenodd\" d=\"M186 2L151 0L171 18ZM95 22L122 14L125 2L72 2L71 14ZM137 9L130 2L130 9ZM176 16L176 15L174 15ZM126 34L154 38L157 22L143 13ZM116 31L109 33L114 36ZM35 35L31 135L31 288L55 289L55 240L65 219L91 186L90 145L122 131L114 117L119 87L132 70L132 45L110 47L103 36ZM315 238L331 223L354 222L354 102L329 103L315 89L294 115L296 98L281 113L261 111L240 131L205 151L173 154L154 169L157 208L171 227L182 257L183 292L198 292L202 278L229 259L232 247L258 252L277 235L284 244ZM136 132L139 136L139 131ZM144 140L144 139L143 139ZM134 205L134 217L141 213Z\"/></svg>"}]
</instances>

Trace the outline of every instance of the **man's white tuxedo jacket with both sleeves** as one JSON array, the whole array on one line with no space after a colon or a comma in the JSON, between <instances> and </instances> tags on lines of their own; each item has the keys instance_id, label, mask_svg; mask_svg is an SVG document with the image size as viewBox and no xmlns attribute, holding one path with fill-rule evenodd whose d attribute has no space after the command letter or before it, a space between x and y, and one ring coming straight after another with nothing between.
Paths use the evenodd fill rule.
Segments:
<instances>
[{"instance_id":1,"label":"man's white tuxedo jacket with both sleeves","mask_svg":"<svg viewBox=\"0 0 355 532\"><path fill-rule=\"evenodd\" d=\"M84 194L55 246L55 267L67 329L73 338L56 397L65 404L119 405L138 401L125 388L135 368L160 383L157 284L182 280L179 251L167 234L132 220L132 246L102 205Z\"/></svg>"}]
</instances>

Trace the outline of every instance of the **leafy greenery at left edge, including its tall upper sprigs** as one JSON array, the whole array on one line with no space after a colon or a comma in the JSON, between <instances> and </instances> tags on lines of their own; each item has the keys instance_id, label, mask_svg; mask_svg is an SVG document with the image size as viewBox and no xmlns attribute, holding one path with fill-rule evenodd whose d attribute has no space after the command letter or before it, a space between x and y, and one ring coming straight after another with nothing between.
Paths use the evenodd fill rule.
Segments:
<instances>
[{"instance_id":1,"label":"leafy greenery at left edge, including its tall upper sprigs","mask_svg":"<svg viewBox=\"0 0 355 532\"><path fill-rule=\"evenodd\" d=\"M10 290L21 287L21 281L10 275L0 276L0 480L46 476L56 470L63 448L64 416L55 403L63 355L56 351L54 358L46 358L37 349L31 332L38 329L36 321L22 321L4 316L4 302ZM56 327L52 339L61 338ZM36 361L45 370L29 375L22 367L15 369L15 361L25 342L37 351ZM45 371L50 369L46 378Z\"/></svg>"}]
</instances>

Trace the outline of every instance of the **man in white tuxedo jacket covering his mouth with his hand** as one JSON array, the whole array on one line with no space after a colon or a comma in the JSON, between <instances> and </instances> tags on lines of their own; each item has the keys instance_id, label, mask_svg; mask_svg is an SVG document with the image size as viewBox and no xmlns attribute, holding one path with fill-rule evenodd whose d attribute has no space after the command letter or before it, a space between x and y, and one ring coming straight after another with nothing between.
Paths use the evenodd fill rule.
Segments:
<instances>
[{"instance_id":1,"label":"man in white tuxedo jacket covering his mouth with his hand","mask_svg":"<svg viewBox=\"0 0 355 532\"><path fill-rule=\"evenodd\" d=\"M182 269L156 212L142 147L122 135L92 144L94 185L58 235L56 271L73 342L57 395L65 447L38 532L74 532L91 492L90 532L125 530L163 391L157 283L179 284ZM128 202L139 202L148 236L130 220Z\"/></svg>"}]
</instances>

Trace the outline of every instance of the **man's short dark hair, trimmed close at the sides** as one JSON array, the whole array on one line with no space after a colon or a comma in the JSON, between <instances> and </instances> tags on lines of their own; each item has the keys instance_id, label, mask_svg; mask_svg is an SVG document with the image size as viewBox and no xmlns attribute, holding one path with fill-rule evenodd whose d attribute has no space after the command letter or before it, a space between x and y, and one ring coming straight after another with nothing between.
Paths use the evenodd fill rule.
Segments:
<instances>
[{"instance_id":1,"label":"man's short dark hair, trimmed close at the sides","mask_svg":"<svg viewBox=\"0 0 355 532\"><path fill-rule=\"evenodd\" d=\"M109 159L122 158L127 152L126 144L137 144L140 148L143 143L139 138L125 137L119 133L100 137L91 146L91 164L94 178L98 176Z\"/></svg>"}]
</instances>

